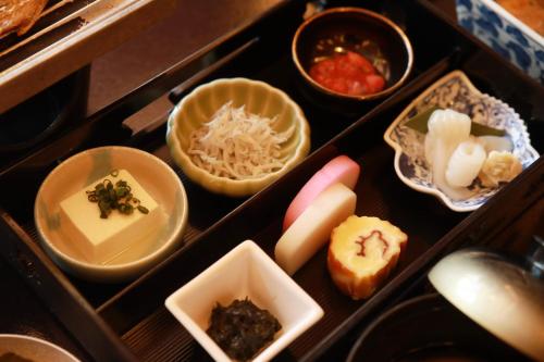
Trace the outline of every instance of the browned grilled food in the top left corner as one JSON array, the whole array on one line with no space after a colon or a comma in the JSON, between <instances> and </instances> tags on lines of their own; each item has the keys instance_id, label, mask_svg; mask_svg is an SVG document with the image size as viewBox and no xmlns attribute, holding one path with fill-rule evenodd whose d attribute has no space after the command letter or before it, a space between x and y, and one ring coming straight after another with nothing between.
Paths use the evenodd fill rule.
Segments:
<instances>
[{"instance_id":1,"label":"browned grilled food in the top left corner","mask_svg":"<svg viewBox=\"0 0 544 362\"><path fill-rule=\"evenodd\" d=\"M39 18L48 0L0 0L0 37L11 32L21 36Z\"/></svg>"}]
</instances>

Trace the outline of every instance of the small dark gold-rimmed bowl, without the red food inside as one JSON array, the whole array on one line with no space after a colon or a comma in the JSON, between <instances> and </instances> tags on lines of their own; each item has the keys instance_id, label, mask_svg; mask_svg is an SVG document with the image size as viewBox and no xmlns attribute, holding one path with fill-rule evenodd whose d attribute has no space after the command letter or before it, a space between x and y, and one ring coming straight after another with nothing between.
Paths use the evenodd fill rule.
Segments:
<instances>
[{"instance_id":1,"label":"small dark gold-rimmed bowl, without the red food inside","mask_svg":"<svg viewBox=\"0 0 544 362\"><path fill-rule=\"evenodd\" d=\"M354 51L370 60L384 76L385 88L379 92L354 96L323 87L309 75L310 67L334 53ZM304 22L292 43L295 65L317 97L354 103L383 98L398 89L408 78L413 51L405 33L391 20L359 8L334 8Z\"/></svg>"}]
</instances>

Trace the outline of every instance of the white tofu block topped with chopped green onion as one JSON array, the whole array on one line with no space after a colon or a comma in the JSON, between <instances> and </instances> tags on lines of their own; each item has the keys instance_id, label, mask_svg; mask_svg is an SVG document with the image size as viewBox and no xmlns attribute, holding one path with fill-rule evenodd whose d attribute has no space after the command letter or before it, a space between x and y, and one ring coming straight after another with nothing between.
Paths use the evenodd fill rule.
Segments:
<instances>
[{"instance_id":1,"label":"white tofu block topped with chopped green onion","mask_svg":"<svg viewBox=\"0 0 544 362\"><path fill-rule=\"evenodd\" d=\"M126 215L113 210L108 219L101 219L98 204L88 200L86 191L94 190L95 185L104 178L113 184L121 179L125 180L131 187L133 197L139 199L140 204L147 208L149 213L144 214L135 209L132 214ZM160 205L126 170L120 170L116 177L108 175L97 179L64 199L60 209L66 237L83 257L92 263L110 261L131 245L156 232L162 221Z\"/></svg>"}]
</instances>

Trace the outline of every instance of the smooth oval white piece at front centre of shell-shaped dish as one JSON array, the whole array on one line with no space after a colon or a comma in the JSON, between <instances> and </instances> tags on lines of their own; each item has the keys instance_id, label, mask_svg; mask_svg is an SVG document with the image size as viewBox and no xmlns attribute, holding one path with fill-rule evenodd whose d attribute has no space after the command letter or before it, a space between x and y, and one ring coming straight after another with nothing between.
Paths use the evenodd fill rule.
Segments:
<instances>
[{"instance_id":1,"label":"smooth oval white piece at front centre of shell-shaped dish","mask_svg":"<svg viewBox=\"0 0 544 362\"><path fill-rule=\"evenodd\" d=\"M460 142L447 163L446 182L454 187L470 186L478 177L484 161L485 150L475 139Z\"/></svg>"}]
</instances>

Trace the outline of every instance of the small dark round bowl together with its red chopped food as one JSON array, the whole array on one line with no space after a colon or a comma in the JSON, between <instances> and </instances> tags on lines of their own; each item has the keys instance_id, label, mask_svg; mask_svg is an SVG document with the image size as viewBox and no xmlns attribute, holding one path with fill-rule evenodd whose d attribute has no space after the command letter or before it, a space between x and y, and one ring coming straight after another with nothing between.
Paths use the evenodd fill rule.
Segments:
<instances>
[{"instance_id":1,"label":"small dark round bowl together with its red chopped food","mask_svg":"<svg viewBox=\"0 0 544 362\"><path fill-rule=\"evenodd\" d=\"M292 52L313 88L357 100L375 99L400 87L413 62L400 27L359 8L334 8L310 17L297 29Z\"/></svg>"}]
</instances>

